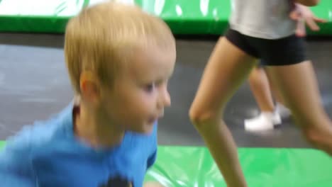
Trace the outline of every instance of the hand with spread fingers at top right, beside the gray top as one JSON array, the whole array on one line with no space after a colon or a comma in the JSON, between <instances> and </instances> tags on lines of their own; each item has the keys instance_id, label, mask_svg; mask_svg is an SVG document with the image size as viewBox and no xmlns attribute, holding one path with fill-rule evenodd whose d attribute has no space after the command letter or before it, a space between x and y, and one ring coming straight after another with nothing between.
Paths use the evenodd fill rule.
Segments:
<instances>
[{"instance_id":1,"label":"hand with spread fingers at top right, beside the gray top","mask_svg":"<svg viewBox=\"0 0 332 187\"><path fill-rule=\"evenodd\" d=\"M327 21L317 18L311 9L301 4L295 4L294 10L289 13L289 17L297 21L296 35L299 37L306 36L306 25L313 31L318 31L320 28L317 23L326 23Z\"/></svg>"}]
</instances>

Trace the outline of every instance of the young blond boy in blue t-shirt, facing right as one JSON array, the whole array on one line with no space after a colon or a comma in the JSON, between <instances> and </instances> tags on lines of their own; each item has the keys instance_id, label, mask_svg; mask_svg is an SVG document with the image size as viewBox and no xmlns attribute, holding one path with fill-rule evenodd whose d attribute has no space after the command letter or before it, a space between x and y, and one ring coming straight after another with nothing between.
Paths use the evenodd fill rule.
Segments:
<instances>
[{"instance_id":1,"label":"young blond boy in blue t-shirt, facing right","mask_svg":"<svg viewBox=\"0 0 332 187\"><path fill-rule=\"evenodd\" d=\"M1 186L143 186L155 162L157 119L170 106L175 57L170 29L137 6L84 9L65 32L78 99L7 141Z\"/></svg>"}]
</instances>

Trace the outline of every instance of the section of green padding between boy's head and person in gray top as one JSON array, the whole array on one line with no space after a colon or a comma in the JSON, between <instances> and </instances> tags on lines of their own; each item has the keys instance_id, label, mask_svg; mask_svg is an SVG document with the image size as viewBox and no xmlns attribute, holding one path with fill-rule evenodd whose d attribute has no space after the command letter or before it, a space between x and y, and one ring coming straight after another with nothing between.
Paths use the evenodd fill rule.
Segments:
<instances>
[{"instance_id":1,"label":"section of green padding between boy's head and person in gray top","mask_svg":"<svg viewBox=\"0 0 332 187\"><path fill-rule=\"evenodd\" d=\"M176 34L220 34L228 26L229 0L137 1L145 11L160 16ZM157 7L157 8L155 8Z\"/></svg>"}]
</instances>

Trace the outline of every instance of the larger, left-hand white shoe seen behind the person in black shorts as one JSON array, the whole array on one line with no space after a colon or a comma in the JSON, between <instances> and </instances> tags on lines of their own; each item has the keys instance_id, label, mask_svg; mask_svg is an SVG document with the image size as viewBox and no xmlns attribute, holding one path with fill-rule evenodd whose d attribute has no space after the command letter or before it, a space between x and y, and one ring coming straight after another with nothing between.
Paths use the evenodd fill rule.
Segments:
<instances>
[{"instance_id":1,"label":"larger, left-hand white shoe seen behind the person in black shorts","mask_svg":"<svg viewBox=\"0 0 332 187\"><path fill-rule=\"evenodd\" d=\"M261 131L272 130L275 125L280 125L282 119L279 113L260 113L258 117L245 120L245 130Z\"/></svg>"}]
</instances>

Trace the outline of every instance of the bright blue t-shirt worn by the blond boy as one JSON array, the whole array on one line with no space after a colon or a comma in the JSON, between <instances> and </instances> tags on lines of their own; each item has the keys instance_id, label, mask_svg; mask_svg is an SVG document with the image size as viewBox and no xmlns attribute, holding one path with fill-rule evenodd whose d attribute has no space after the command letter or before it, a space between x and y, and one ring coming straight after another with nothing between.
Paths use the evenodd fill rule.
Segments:
<instances>
[{"instance_id":1,"label":"bright blue t-shirt worn by the blond boy","mask_svg":"<svg viewBox=\"0 0 332 187\"><path fill-rule=\"evenodd\" d=\"M0 186L143 186L156 158L157 125L150 135L126 132L121 145L92 149L74 137L72 107L7 141Z\"/></svg>"}]
</instances>

